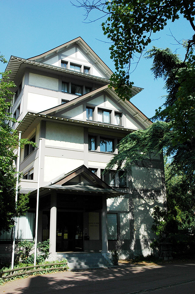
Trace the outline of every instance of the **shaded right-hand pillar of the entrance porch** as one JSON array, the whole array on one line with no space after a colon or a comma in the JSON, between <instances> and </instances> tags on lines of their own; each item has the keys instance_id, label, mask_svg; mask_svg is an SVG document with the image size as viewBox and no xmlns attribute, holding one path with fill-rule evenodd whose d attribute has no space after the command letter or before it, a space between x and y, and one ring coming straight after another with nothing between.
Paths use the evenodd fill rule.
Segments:
<instances>
[{"instance_id":1,"label":"shaded right-hand pillar of the entrance porch","mask_svg":"<svg viewBox=\"0 0 195 294\"><path fill-rule=\"evenodd\" d=\"M108 253L108 223L107 223L107 203L106 197L102 197L102 210L101 210L101 240L102 240L102 253Z\"/></svg>"}]
</instances>

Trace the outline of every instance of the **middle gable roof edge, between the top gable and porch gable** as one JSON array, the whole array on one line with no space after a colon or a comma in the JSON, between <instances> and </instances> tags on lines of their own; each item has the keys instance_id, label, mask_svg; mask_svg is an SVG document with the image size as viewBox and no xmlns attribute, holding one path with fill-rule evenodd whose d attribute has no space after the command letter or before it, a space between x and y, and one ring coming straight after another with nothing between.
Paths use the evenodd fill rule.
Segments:
<instances>
[{"instance_id":1,"label":"middle gable roof edge, between the top gable and porch gable","mask_svg":"<svg viewBox=\"0 0 195 294\"><path fill-rule=\"evenodd\" d=\"M137 88L133 87L132 88L132 97L135 96L137 93L139 93L142 90L142 88ZM118 97L118 95L115 93L115 89L109 88L108 85L101 86L93 91L90 91L82 96L78 96L69 102L65 104L60 104L58 106L52 107L50 109L47 109L45 111L40 112L40 114L45 114L45 115L54 115L59 111L66 110L68 107L72 105L76 105L80 101L83 101L89 97L93 97L94 95L101 93L101 92L107 92L110 96L112 96L119 104L121 104L133 117L136 117L136 119L144 124L145 127L149 126L152 124L152 122L143 114L133 103L127 100L122 100Z\"/></svg>"}]
</instances>

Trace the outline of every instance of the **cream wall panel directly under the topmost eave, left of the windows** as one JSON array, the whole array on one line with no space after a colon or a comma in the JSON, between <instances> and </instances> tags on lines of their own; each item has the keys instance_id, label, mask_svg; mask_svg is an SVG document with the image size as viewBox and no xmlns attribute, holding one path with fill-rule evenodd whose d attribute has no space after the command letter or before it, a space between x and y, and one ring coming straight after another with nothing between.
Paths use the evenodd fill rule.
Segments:
<instances>
[{"instance_id":1,"label":"cream wall panel directly under the topmost eave, left of the windows","mask_svg":"<svg viewBox=\"0 0 195 294\"><path fill-rule=\"evenodd\" d=\"M58 91L58 79L29 73L29 85Z\"/></svg>"}]
</instances>

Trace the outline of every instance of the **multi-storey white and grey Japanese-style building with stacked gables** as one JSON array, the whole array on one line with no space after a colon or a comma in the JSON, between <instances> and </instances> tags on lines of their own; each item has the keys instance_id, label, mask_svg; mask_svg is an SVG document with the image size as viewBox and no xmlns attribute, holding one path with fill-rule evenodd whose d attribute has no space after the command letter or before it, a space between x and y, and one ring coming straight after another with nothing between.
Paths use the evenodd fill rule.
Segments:
<instances>
[{"instance_id":1,"label":"multi-storey white and grey Japanese-style building with stacked gables","mask_svg":"<svg viewBox=\"0 0 195 294\"><path fill-rule=\"evenodd\" d=\"M151 121L108 87L112 71L80 37L29 59L11 56L7 70L17 85L12 114L21 121L12 127L37 143L21 151L20 192L30 192L30 209L16 239L34 239L41 138L38 241L49 238L54 254L148 254L152 209L166 206L163 158L148 159L150 169L132 166L128 176L102 171L119 141ZM8 254L11 233L0 238Z\"/></svg>"}]
</instances>

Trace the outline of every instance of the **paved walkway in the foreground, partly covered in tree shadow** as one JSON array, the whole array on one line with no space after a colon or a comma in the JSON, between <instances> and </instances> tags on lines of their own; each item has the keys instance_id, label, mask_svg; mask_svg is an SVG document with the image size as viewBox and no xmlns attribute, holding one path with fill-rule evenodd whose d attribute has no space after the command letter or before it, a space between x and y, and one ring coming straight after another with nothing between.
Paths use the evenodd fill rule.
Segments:
<instances>
[{"instance_id":1,"label":"paved walkway in the foreground, partly covered in tree shadow","mask_svg":"<svg viewBox=\"0 0 195 294\"><path fill-rule=\"evenodd\" d=\"M195 263L115 268L31 276L0 286L0 293L195 293Z\"/></svg>"}]
</instances>

